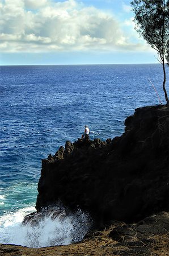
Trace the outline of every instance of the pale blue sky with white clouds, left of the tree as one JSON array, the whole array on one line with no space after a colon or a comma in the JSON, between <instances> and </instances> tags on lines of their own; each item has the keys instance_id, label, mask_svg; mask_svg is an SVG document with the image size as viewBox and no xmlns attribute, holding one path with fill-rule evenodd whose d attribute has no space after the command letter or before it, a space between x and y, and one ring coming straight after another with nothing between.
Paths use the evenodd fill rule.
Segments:
<instances>
[{"instance_id":1,"label":"pale blue sky with white clouds, left of the tree","mask_svg":"<svg viewBox=\"0 0 169 256\"><path fill-rule=\"evenodd\" d=\"M0 0L0 65L157 63L128 0Z\"/></svg>"}]
</instances>

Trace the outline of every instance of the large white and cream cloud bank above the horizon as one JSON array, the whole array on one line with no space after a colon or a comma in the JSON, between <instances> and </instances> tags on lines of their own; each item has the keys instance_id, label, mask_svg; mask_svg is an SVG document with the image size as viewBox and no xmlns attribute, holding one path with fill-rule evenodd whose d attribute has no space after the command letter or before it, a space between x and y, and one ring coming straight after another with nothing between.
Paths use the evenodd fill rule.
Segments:
<instances>
[{"instance_id":1,"label":"large white and cream cloud bank above the horizon","mask_svg":"<svg viewBox=\"0 0 169 256\"><path fill-rule=\"evenodd\" d=\"M111 14L75 0L1 0L1 52L143 49Z\"/></svg>"}]
</instances>

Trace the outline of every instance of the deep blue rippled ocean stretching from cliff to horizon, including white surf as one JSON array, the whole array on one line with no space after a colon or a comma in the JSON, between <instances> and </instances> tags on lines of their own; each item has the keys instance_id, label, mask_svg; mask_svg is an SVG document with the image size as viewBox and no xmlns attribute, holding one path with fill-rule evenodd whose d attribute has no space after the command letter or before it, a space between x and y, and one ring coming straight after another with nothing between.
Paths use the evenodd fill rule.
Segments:
<instances>
[{"instance_id":1,"label":"deep blue rippled ocean stretching from cliff to horizon, including white surf","mask_svg":"<svg viewBox=\"0 0 169 256\"><path fill-rule=\"evenodd\" d=\"M165 104L160 64L0 67L0 243L43 247L75 239L72 220L88 221L84 213L52 224L52 234L51 220L39 233L22 226L35 210L41 159L80 138L84 125L91 139L120 136L134 109L159 104L149 79ZM62 239L53 240L56 230Z\"/></svg>"}]
</instances>

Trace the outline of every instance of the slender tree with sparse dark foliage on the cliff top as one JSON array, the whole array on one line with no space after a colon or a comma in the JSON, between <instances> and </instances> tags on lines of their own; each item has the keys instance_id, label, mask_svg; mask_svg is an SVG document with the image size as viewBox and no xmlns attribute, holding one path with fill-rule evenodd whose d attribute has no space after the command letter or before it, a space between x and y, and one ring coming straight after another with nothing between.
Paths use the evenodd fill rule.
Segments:
<instances>
[{"instance_id":1,"label":"slender tree with sparse dark foliage on the cliff top","mask_svg":"<svg viewBox=\"0 0 169 256\"><path fill-rule=\"evenodd\" d=\"M133 0L137 32L158 52L158 60L163 65L163 90L167 105L166 64L169 65L169 1Z\"/></svg>"}]
</instances>

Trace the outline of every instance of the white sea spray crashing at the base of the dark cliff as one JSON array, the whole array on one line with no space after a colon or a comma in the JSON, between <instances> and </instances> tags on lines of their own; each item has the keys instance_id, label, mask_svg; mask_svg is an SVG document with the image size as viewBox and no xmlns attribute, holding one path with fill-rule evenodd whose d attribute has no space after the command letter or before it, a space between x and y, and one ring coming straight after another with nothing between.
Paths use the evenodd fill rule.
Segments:
<instances>
[{"instance_id":1,"label":"white sea spray crashing at the base of the dark cliff","mask_svg":"<svg viewBox=\"0 0 169 256\"><path fill-rule=\"evenodd\" d=\"M91 218L81 210L75 213L54 215L43 211L41 217L35 216L23 224L26 214L35 208L24 208L8 213L0 218L0 243L39 248L55 245L69 245L81 241L91 226ZM65 213L65 214L63 214Z\"/></svg>"}]
</instances>

